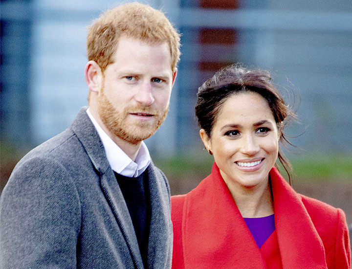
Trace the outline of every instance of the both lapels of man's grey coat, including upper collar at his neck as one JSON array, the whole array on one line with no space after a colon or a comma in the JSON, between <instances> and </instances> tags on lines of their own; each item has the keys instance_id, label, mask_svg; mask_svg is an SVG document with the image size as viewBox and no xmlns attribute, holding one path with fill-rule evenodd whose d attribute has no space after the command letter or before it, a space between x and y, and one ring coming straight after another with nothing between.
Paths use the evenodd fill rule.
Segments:
<instances>
[{"instance_id":1,"label":"both lapels of man's grey coat, including upper collar at his neck","mask_svg":"<svg viewBox=\"0 0 352 269\"><path fill-rule=\"evenodd\" d=\"M87 107L81 109L70 128L81 141L94 168L100 175L102 190L125 237L136 268L143 268L142 257L127 204L106 157L103 143L86 110ZM148 265L149 268L164 268L165 261L170 260L171 262L171 257L168 257L172 247L170 197L165 194L165 186L162 186L165 181L160 178L160 172L156 170L153 162L149 164L146 172L149 177L152 208Z\"/></svg>"}]
</instances>

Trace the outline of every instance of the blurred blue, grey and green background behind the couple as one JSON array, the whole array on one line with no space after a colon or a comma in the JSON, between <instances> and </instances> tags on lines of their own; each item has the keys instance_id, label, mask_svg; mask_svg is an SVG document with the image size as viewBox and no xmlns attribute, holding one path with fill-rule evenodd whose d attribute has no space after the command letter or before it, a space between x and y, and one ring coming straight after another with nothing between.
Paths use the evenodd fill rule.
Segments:
<instances>
[{"instance_id":1,"label":"blurred blue, grey and green background behind the couple","mask_svg":"<svg viewBox=\"0 0 352 269\"><path fill-rule=\"evenodd\" d=\"M182 34L170 112L146 141L172 194L190 191L211 171L194 115L198 87L240 62L270 70L298 108L299 122L287 129L298 147L286 151L291 185L342 208L352 224L352 1L142 2L162 9ZM87 105L87 26L119 3L1 0L0 190L25 153Z\"/></svg>"}]
</instances>

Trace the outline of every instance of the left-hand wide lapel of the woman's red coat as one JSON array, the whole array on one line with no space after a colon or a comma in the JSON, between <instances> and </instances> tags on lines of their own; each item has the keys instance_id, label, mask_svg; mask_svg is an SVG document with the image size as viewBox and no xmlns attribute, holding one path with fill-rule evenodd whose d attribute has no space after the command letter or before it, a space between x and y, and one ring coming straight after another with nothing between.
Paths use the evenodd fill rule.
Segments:
<instances>
[{"instance_id":1,"label":"left-hand wide lapel of the woman's red coat","mask_svg":"<svg viewBox=\"0 0 352 269\"><path fill-rule=\"evenodd\" d=\"M267 268L215 163L212 174L186 196L182 219L187 268Z\"/></svg>"}]
</instances>

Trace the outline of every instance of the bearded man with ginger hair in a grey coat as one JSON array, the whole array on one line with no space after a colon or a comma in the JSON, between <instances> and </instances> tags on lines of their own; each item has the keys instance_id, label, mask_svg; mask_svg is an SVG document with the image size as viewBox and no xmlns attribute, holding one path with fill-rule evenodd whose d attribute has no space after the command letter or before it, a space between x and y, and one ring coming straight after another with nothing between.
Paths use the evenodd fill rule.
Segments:
<instances>
[{"instance_id":1,"label":"bearded man with ginger hair in a grey coat","mask_svg":"<svg viewBox=\"0 0 352 269\"><path fill-rule=\"evenodd\" d=\"M0 268L171 268L170 192L143 140L165 119L179 34L140 3L89 28L88 105L0 199Z\"/></svg>"}]
</instances>

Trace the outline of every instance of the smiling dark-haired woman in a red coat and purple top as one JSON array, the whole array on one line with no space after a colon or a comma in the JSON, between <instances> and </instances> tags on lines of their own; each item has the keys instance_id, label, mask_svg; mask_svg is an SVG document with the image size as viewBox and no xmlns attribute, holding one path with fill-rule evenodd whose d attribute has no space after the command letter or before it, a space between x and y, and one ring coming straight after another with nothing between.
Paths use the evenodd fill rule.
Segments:
<instances>
[{"instance_id":1,"label":"smiling dark-haired woman in a red coat and purple top","mask_svg":"<svg viewBox=\"0 0 352 269\"><path fill-rule=\"evenodd\" d=\"M172 197L174 269L349 269L341 209L297 194L274 167L286 117L268 72L230 66L198 90L212 173ZM285 120L286 119L286 120Z\"/></svg>"}]
</instances>

